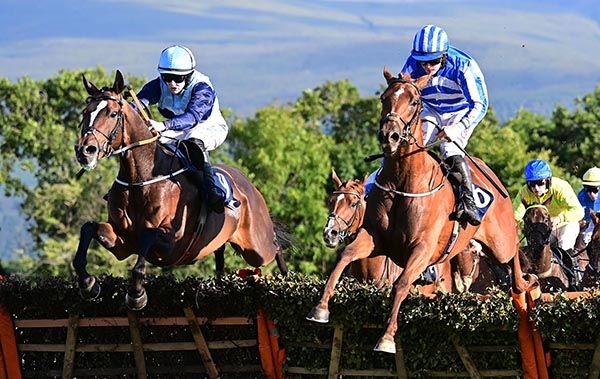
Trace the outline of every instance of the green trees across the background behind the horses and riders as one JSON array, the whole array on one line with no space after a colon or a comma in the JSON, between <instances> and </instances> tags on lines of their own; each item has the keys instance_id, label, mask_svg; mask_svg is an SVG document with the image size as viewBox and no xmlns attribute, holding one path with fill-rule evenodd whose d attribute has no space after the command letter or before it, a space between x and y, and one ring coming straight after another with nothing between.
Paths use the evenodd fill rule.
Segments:
<instances>
[{"instance_id":1,"label":"green trees across the background behind the horses and riders","mask_svg":"<svg viewBox=\"0 0 600 379\"><path fill-rule=\"evenodd\" d=\"M82 73L99 86L114 80L101 67L63 70L45 81L24 77L12 83L0 78L0 185L7 194L24 199L22 212L35 242L35 252L10 263L13 269L68 273L81 225L106 219L102 196L116 176L117 161L103 160L81 180L73 178L79 166L71 146L87 97ZM134 89L144 83L135 76L127 80ZM513 196L523 185L523 167L534 158L549 160L555 175L577 189L582 173L598 156L600 87L576 104L572 112L558 106L551 118L520 110L502 125L490 109L468 151L482 158ZM225 113L230 134L214 158L246 172L264 194L273 217L287 225L296 245L286 256L291 269L326 273L335 259L321 241L331 168L342 179L354 179L378 167L379 162L365 163L363 158L379 151L379 99L361 97L347 80L328 81L304 91L294 103L262 108L248 119L230 110ZM156 111L154 115L159 117ZM236 254L226 257L226 267L243 265ZM92 272L122 275L129 267L92 244ZM174 273L209 275L212 267L207 261Z\"/></svg>"}]
</instances>

